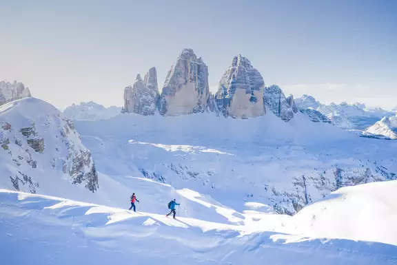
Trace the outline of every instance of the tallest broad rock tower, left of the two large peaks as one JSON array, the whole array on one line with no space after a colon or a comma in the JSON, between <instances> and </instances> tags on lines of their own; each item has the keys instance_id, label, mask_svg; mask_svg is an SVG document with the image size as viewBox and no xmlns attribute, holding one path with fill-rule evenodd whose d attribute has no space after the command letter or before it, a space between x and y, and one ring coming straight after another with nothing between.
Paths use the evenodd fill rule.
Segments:
<instances>
[{"instance_id":1,"label":"tallest broad rock tower, left of the two large peaks","mask_svg":"<svg viewBox=\"0 0 397 265\"><path fill-rule=\"evenodd\" d=\"M179 54L165 78L159 100L159 112L177 116L204 112L210 96L208 68L191 49Z\"/></svg>"}]
</instances>

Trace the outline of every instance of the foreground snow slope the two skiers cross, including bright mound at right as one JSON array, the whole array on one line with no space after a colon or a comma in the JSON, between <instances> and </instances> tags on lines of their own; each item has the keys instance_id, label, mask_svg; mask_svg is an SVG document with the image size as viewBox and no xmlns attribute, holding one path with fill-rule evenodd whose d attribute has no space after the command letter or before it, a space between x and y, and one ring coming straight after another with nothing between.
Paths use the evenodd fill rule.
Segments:
<instances>
[{"instance_id":1,"label":"foreground snow slope the two skiers cross, including bright mound at right","mask_svg":"<svg viewBox=\"0 0 397 265\"><path fill-rule=\"evenodd\" d=\"M238 213L242 222L236 224L172 220L161 212L132 213L0 190L1 260L14 265L396 264L396 184L340 189L295 217L247 210ZM195 206L205 205L199 195L177 192ZM15 255L16 249L23 255Z\"/></svg>"}]
</instances>

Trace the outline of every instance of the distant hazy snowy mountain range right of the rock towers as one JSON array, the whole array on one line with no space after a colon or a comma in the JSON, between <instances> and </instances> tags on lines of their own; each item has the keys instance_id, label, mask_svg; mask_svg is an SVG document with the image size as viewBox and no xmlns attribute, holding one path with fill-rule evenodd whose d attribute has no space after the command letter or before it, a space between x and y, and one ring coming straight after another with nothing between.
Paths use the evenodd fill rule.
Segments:
<instances>
[{"instance_id":1,"label":"distant hazy snowy mountain range right of the rock towers","mask_svg":"<svg viewBox=\"0 0 397 265\"><path fill-rule=\"evenodd\" d=\"M365 130L367 127L376 123L384 116L393 116L393 112L385 109L370 109L361 103L331 103L329 105L321 104L313 96L303 95L295 99L296 106L301 109L315 109L324 114L332 123L342 129L360 129Z\"/></svg>"}]
</instances>

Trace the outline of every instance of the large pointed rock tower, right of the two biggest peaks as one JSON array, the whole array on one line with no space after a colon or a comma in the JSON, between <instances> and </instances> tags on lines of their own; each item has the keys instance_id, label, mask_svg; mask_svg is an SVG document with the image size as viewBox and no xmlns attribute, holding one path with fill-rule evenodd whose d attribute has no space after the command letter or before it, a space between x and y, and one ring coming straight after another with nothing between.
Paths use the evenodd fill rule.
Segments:
<instances>
[{"instance_id":1,"label":"large pointed rock tower, right of the two biggest peaks","mask_svg":"<svg viewBox=\"0 0 397 265\"><path fill-rule=\"evenodd\" d=\"M238 54L232 65L219 81L215 100L223 116L233 118L250 118L265 114L263 106L263 88L265 82L261 73L251 62Z\"/></svg>"}]
</instances>

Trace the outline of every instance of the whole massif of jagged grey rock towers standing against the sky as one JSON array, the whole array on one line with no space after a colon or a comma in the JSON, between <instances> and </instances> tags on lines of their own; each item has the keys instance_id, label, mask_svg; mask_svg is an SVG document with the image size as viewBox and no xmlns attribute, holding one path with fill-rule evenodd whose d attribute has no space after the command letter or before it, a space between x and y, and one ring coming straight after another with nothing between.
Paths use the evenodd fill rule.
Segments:
<instances>
[{"instance_id":1,"label":"whole massif of jagged grey rock towers standing against the sky","mask_svg":"<svg viewBox=\"0 0 397 265\"><path fill-rule=\"evenodd\" d=\"M150 87L147 80L152 80ZM138 74L134 85L125 87L122 112L143 116L210 112L231 118L255 118L269 112L288 122L294 118L298 107L294 97L286 97L277 85L265 86L261 73L241 54L234 56L231 65L221 76L218 91L212 95L207 65L192 49L183 49L165 78L161 94L156 68L152 67L145 81ZM329 123L320 113L301 113L314 122Z\"/></svg>"}]
</instances>

